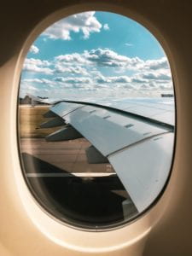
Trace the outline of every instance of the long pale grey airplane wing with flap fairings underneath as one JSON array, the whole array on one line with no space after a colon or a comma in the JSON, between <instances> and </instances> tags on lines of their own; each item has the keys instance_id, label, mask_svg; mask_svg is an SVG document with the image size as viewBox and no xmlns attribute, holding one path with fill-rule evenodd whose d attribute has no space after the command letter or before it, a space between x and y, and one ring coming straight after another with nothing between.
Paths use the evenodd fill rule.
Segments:
<instances>
[{"instance_id":1,"label":"long pale grey airplane wing with flap fairings underneath","mask_svg":"<svg viewBox=\"0 0 192 256\"><path fill-rule=\"evenodd\" d=\"M86 149L88 161L109 161L138 212L143 212L160 194L169 175L174 113L172 107L153 102L115 104L57 102L44 114L55 119L40 127L62 125L46 137L49 142L86 138L91 143Z\"/></svg>"}]
</instances>

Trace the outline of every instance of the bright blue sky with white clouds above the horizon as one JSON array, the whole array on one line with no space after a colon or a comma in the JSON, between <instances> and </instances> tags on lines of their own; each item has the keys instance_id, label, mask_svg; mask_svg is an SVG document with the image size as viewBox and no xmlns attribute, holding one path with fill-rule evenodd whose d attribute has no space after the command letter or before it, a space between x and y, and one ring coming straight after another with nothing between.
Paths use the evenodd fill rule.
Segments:
<instances>
[{"instance_id":1,"label":"bright blue sky with white clouds above the horizon","mask_svg":"<svg viewBox=\"0 0 192 256\"><path fill-rule=\"evenodd\" d=\"M136 21L84 12L49 26L33 42L21 72L20 97L84 99L173 93L166 55Z\"/></svg>"}]
</instances>

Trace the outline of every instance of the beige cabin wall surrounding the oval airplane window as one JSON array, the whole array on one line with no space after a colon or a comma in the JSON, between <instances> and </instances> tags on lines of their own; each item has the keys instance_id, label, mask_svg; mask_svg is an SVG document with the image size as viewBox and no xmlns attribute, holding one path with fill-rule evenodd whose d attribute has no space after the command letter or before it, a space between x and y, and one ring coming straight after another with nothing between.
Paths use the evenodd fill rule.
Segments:
<instances>
[{"instance_id":1,"label":"beige cabin wall surrounding the oval airplane window","mask_svg":"<svg viewBox=\"0 0 192 256\"><path fill-rule=\"evenodd\" d=\"M15 168L20 169L16 144L16 108L19 70L27 46L32 44L32 40L45 26L55 20L56 15L51 14L57 12L57 17L61 17L62 12L67 15L89 9L110 10L135 17L154 32L163 44L172 67L177 102L177 140L172 177L160 201L143 217L148 223L145 228L150 229L150 232L140 238L136 236L131 245L128 243L119 250L116 247L113 252L106 249L101 255L189 255L192 251L192 9L189 1L178 0L106 0L105 3L101 0L3 1L0 10L0 254L56 256L65 252L65 255L98 255L97 251L80 253L75 248L63 249L39 232L25 213L13 175ZM38 24L42 26L34 30ZM26 48L22 49L24 44ZM117 239L120 242L120 237ZM100 246L97 241L95 243L96 247Z\"/></svg>"}]
</instances>

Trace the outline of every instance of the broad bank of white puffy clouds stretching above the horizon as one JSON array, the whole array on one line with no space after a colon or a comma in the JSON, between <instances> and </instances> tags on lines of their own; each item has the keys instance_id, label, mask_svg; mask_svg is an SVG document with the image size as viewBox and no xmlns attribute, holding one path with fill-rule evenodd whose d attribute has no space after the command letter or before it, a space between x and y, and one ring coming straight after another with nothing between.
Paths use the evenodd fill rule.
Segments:
<instances>
[{"instance_id":1,"label":"broad bank of white puffy clouds stretching above the horizon","mask_svg":"<svg viewBox=\"0 0 192 256\"><path fill-rule=\"evenodd\" d=\"M166 57L143 61L119 55L112 49L90 49L82 53L58 55L50 61L26 59L25 70L52 75L52 79L23 79L26 85L52 90L124 96L172 91L172 74ZM120 71L121 73L117 73ZM47 86L47 87L46 87ZM32 89L31 89L32 90Z\"/></svg>"}]
</instances>

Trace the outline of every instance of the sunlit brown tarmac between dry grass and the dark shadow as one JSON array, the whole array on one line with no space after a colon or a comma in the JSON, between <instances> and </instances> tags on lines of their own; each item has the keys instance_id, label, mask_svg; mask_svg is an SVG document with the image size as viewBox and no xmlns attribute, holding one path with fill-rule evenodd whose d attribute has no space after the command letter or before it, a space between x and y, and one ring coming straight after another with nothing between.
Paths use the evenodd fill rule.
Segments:
<instances>
[{"instance_id":1,"label":"sunlit brown tarmac between dry grass and the dark shadow","mask_svg":"<svg viewBox=\"0 0 192 256\"><path fill-rule=\"evenodd\" d=\"M44 138L21 138L20 151L27 159L41 160L69 173L115 173L110 164L89 164L85 148L90 143L86 139L67 142L46 142ZM34 170L33 170L34 171ZM26 170L26 172L33 172Z\"/></svg>"}]
</instances>

